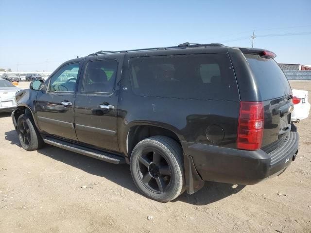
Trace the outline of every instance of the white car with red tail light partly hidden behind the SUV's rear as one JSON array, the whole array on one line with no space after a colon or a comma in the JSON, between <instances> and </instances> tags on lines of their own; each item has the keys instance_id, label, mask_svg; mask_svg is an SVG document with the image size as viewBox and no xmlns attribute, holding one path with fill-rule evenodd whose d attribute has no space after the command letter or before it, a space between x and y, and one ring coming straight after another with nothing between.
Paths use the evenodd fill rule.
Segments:
<instances>
[{"instance_id":1,"label":"white car with red tail light partly hidden behind the SUV's rear","mask_svg":"<svg viewBox=\"0 0 311 233\"><path fill-rule=\"evenodd\" d=\"M306 119L310 112L310 103L308 102L308 91L292 90L294 111L292 112L292 122L299 122Z\"/></svg>"}]
</instances>

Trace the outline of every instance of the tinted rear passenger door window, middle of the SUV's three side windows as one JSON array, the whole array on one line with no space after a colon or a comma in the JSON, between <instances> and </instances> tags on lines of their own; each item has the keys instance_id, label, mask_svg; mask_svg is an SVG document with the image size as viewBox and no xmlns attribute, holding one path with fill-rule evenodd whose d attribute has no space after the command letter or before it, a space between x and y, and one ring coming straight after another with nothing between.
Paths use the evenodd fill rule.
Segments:
<instances>
[{"instance_id":1,"label":"tinted rear passenger door window, middle of the SUV's three side windows","mask_svg":"<svg viewBox=\"0 0 311 233\"><path fill-rule=\"evenodd\" d=\"M112 93L117 69L115 60L90 61L86 66L82 92Z\"/></svg>"}]
</instances>

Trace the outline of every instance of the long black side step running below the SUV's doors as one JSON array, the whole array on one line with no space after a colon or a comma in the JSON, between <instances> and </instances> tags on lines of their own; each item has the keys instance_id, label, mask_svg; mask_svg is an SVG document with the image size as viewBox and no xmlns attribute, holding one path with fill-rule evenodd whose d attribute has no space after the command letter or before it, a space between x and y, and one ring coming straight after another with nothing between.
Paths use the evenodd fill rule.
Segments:
<instances>
[{"instance_id":1,"label":"long black side step running below the SUV's doors","mask_svg":"<svg viewBox=\"0 0 311 233\"><path fill-rule=\"evenodd\" d=\"M76 152L79 154L83 154L95 159L99 159L108 163L112 163L112 164L125 164L125 158L118 156L118 155L114 155L114 154L110 154L107 152L103 152L100 150L93 150L93 149L89 149L89 148L85 148L70 142L64 142L61 141L59 139L56 138L52 138L52 137L46 137L43 139L43 141L47 144L50 144L52 146L55 147L59 147L65 150L70 150L72 152Z\"/></svg>"}]
</instances>

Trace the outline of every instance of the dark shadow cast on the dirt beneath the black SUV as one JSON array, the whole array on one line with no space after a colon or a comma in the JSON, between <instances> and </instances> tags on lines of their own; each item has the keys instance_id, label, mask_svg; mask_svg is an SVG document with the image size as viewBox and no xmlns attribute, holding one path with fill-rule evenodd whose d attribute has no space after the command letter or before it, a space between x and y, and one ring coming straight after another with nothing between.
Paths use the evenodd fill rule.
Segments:
<instances>
[{"instance_id":1,"label":"dark shadow cast on the dirt beneath the black SUV","mask_svg":"<svg viewBox=\"0 0 311 233\"><path fill-rule=\"evenodd\" d=\"M6 132L5 139L12 145L21 147L15 130ZM25 153L27 153L27 151L25 151ZM140 194L139 190L133 183L130 167L126 164L110 164L50 145L47 145L46 147L38 150L38 153L49 156L52 159L68 164L70 166L74 166L78 169L84 170L87 173L105 177L106 179L117 183L124 188ZM238 185L234 187L232 184L206 182L205 186L198 192L192 195L189 195L185 192L177 199L173 200L173 202L182 201L193 205L206 205L224 199L232 194L236 194L244 187L245 185Z\"/></svg>"}]
</instances>

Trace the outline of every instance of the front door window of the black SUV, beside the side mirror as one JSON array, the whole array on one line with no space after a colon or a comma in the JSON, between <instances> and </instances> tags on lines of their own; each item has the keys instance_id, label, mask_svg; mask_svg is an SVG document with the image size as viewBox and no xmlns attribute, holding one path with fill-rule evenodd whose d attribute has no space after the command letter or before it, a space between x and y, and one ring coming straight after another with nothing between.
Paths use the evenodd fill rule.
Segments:
<instances>
[{"instance_id":1,"label":"front door window of the black SUV, beside the side mirror","mask_svg":"<svg viewBox=\"0 0 311 233\"><path fill-rule=\"evenodd\" d=\"M74 91L77 82L78 72L79 63L71 63L62 67L51 78L49 91Z\"/></svg>"}]
</instances>

